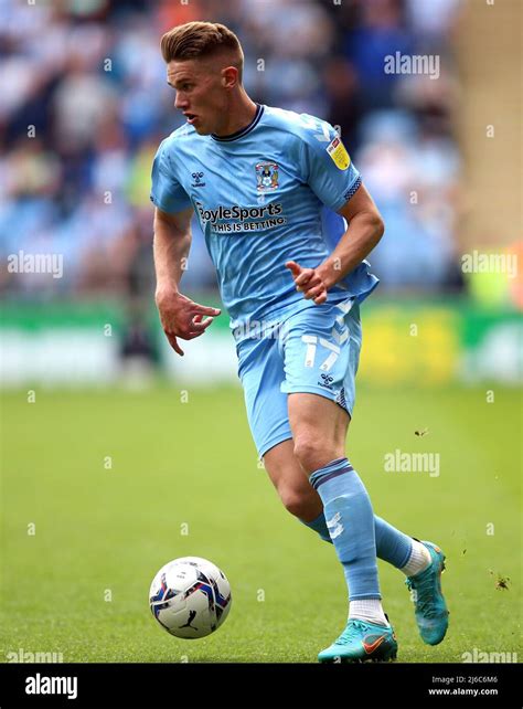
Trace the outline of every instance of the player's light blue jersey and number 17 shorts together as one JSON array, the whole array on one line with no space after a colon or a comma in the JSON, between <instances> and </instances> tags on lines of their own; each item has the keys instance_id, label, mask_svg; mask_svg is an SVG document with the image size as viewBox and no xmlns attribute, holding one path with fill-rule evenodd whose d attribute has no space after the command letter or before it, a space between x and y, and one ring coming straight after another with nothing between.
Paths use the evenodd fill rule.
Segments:
<instances>
[{"instance_id":1,"label":"player's light blue jersey and number 17 shorts together","mask_svg":"<svg viewBox=\"0 0 523 709\"><path fill-rule=\"evenodd\" d=\"M263 456L291 438L287 394L317 393L352 413L361 347L359 304L377 285L363 262L316 305L296 290L287 261L316 267L330 253L325 223L357 190L360 173L328 123L257 107L227 138L189 124L160 145L152 202L194 208L236 340L247 415Z\"/></svg>"}]
</instances>

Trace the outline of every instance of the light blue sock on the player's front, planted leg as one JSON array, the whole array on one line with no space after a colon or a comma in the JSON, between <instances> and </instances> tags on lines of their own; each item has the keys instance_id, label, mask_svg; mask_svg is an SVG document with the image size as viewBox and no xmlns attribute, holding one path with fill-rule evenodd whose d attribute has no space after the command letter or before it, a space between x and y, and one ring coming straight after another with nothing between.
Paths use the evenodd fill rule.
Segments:
<instances>
[{"instance_id":1,"label":"light blue sock on the player's front, planted leg","mask_svg":"<svg viewBox=\"0 0 523 709\"><path fill-rule=\"evenodd\" d=\"M374 514L357 473L346 458L316 470L310 484L323 502L327 527L343 565L349 599L381 599Z\"/></svg>"}]
</instances>

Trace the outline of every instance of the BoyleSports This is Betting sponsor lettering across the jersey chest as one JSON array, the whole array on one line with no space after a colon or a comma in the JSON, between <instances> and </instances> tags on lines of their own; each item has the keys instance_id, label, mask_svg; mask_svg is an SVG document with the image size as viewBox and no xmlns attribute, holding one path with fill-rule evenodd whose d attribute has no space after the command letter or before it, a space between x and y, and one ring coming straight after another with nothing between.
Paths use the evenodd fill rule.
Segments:
<instances>
[{"instance_id":1,"label":"BoyleSports This is Betting sponsor lettering across the jersey chest","mask_svg":"<svg viewBox=\"0 0 523 709\"><path fill-rule=\"evenodd\" d=\"M280 226L287 222L284 205L280 202L271 202L264 207L231 207L220 205L217 209L205 209L201 202L195 202L196 210L202 225L211 223L214 232L243 232L260 231ZM231 221L227 221L231 220ZM257 221L262 220L262 221Z\"/></svg>"}]
</instances>

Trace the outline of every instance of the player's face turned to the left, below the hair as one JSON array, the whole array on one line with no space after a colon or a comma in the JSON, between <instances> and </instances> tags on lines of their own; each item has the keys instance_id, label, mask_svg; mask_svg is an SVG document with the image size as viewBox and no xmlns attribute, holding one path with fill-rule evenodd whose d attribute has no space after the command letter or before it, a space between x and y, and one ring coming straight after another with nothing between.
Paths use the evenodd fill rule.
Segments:
<instances>
[{"instance_id":1,"label":"player's face turned to the left, below the hair","mask_svg":"<svg viewBox=\"0 0 523 709\"><path fill-rule=\"evenodd\" d=\"M200 135L220 133L227 110L220 64L207 60L172 61L167 67L167 81L177 91L175 108Z\"/></svg>"}]
</instances>

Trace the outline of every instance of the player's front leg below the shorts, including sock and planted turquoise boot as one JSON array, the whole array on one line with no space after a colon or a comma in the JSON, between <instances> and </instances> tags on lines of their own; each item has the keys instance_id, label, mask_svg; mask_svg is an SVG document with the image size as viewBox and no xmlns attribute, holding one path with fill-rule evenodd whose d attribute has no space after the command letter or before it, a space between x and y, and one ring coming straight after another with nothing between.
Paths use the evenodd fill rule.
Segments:
<instances>
[{"instance_id":1,"label":"player's front leg below the shorts, including sock and planted turquoise boot","mask_svg":"<svg viewBox=\"0 0 523 709\"><path fill-rule=\"evenodd\" d=\"M289 394L288 406L295 455L321 497L349 589L346 627L319 659L394 658L396 638L381 603L374 514L344 453L349 416L333 401L311 393Z\"/></svg>"}]
</instances>

